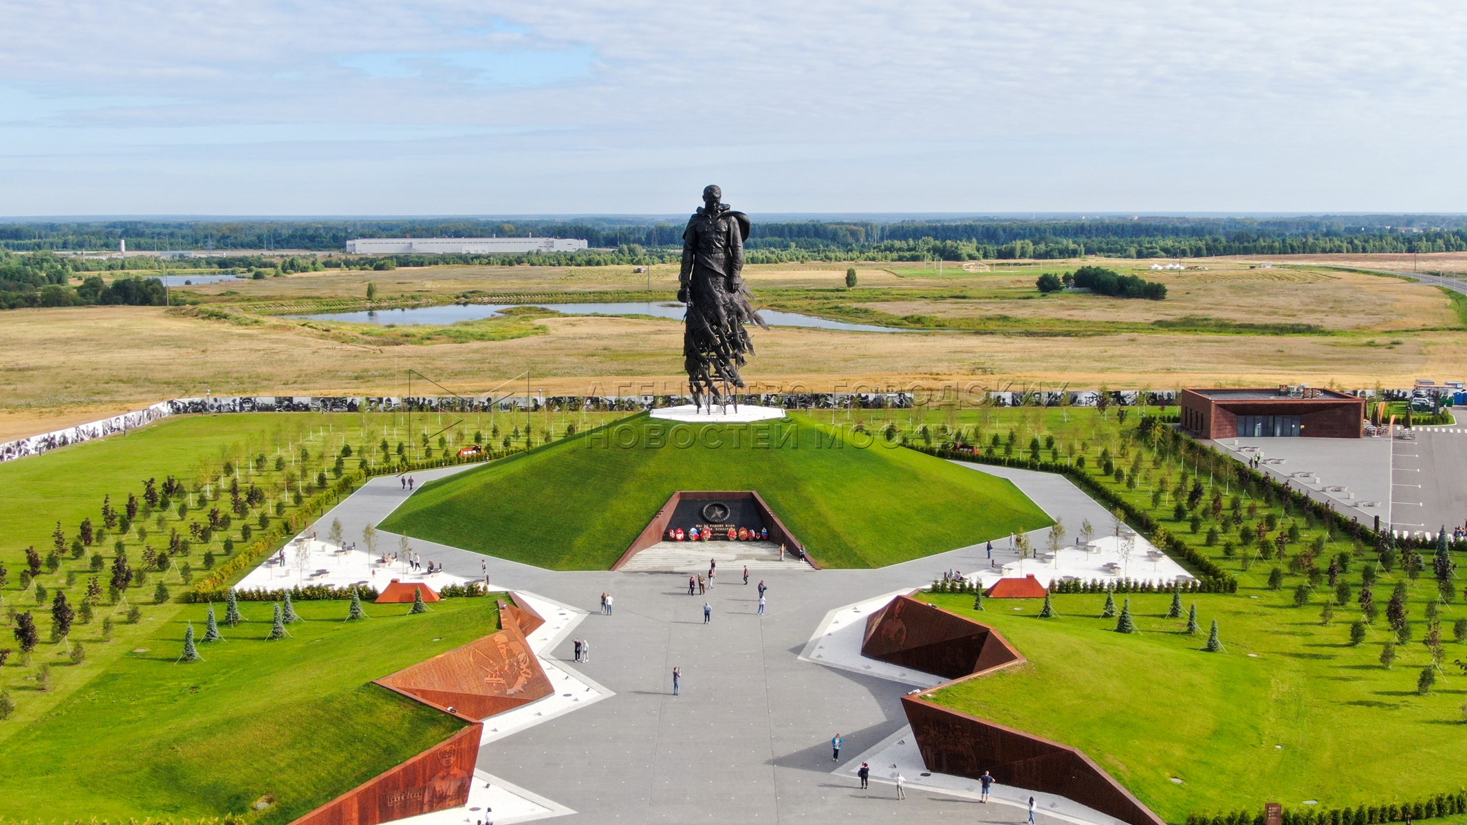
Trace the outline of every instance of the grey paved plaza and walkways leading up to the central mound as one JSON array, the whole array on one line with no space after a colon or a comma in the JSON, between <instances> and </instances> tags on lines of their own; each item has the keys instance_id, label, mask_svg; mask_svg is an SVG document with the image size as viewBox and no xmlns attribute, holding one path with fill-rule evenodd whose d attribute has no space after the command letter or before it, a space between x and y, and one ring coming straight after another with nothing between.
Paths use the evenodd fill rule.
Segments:
<instances>
[{"instance_id":1,"label":"grey paved plaza and walkways leading up to the central mound","mask_svg":"<svg viewBox=\"0 0 1467 825\"><path fill-rule=\"evenodd\" d=\"M462 470L415 478L421 485ZM989 470L1012 479L1071 530L1083 519L1097 530L1109 526L1105 508L1064 478L983 467ZM346 541L361 542L362 528L380 523L406 495L396 478L374 479L314 529L324 535L340 519ZM1045 533L1031 535L1036 547ZM396 535L381 533L381 547L396 544ZM481 576L484 555L420 539L412 545L424 563ZM1008 536L995 536L995 557L1000 564L1017 560ZM689 596L687 576L678 573L552 571L487 557L494 586L590 614L575 633L593 643L590 664L572 664L568 639L543 655L615 695L496 741L481 752L480 769L575 810L565 822L1022 822L1024 812L978 804L958 790L911 787L904 802L880 783L860 790L845 774L849 761L907 728L899 699L911 684L801 659L811 635L842 605L989 563L980 544L879 570L760 570L747 586L741 576L720 576L716 589ZM766 615L756 613L760 579L769 585ZM600 614L603 591L616 596L615 615ZM672 695L673 667L682 668L681 696ZM836 734L852 755L841 762L830 758ZM1043 810L1046 825L1112 825L1100 815Z\"/></svg>"}]
</instances>

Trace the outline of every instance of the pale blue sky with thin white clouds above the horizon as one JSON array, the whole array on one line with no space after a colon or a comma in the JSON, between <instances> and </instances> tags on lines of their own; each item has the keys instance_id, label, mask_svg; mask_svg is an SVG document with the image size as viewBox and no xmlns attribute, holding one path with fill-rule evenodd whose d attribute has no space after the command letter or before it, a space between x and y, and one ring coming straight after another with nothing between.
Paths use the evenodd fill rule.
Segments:
<instances>
[{"instance_id":1,"label":"pale blue sky with thin white clouds above the horizon","mask_svg":"<svg viewBox=\"0 0 1467 825\"><path fill-rule=\"evenodd\" d=\"M1463 212L1458 0L0 0L0 215Z\"/></svg>"}]
</instances>

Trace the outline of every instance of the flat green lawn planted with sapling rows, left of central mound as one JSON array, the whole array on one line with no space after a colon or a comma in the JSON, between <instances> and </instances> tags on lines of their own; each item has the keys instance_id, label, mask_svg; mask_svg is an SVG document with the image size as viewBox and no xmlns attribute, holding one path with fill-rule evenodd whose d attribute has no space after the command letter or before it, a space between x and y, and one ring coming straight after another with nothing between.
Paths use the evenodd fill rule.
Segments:
<instances>
[{"instance_id":1,"label":"flat green lawn planted with sapling rows, left of central mound","mask_svg":"<svg viewBox=\"0 0 1467 825\"><path fill-rule=\"evenodd\" d=\"M563 437L569 423L590 426L604 419L606 413L534 413L525 415L467 415L459 428L445 434L449 450L456 448L474 435L484 435L486 441L494 438L494 444L502 447L502 438L512 438L515 444L524 444L524 429L530 425L535 431L538 443L546 429L552 429L555 437ZM415 415L414 429L420 434L436 432L456 421L439 415ZM503 428L497 435L496 429ZM154 588L161 580L176 596L188 589L183 580L183 567L189 567L195 576L205 571L205 552L213 552L217 563L223 563L223 542L230 538L239 548L248 542L244 539L245 525L258 526L258 514L268 513L279 522L274 504L285 506L285 516L296 516L296 506L286 495L288 479L295 476L314 476L317 472L327 472L332 478L332 459L339 454L343 444L355 445L351 467L361 456L362 447L373 447L380 440L390 440L390 444L408 438L406 416L395 413L232 413L219 416L176 416L156 425L132 431L126 437L111 437L100 441L70 445L53 450L41 456L32 456L16 462L0 465L0 489L6 491L6 507L0 507L0 564L4 566L7 582L0 586L0 648L15 648L12 637L13 620L9 610L31 611L41 633L41 645L31 656L31 664L22 664L19 652L10 656L6 667L0 668L0 690L12 690L16 702L15 715L9 721L0 721L0 749L4 739L18 725L29 724L54 706L66 702L75 692L82 690L100 670L109 668L114 659L128 649L141 643L150 633L151 623L172 621L180 610L175 601L154 604ZM436 454L442 454L437 441L433 441ZM307 448L311 454L310 465L302 465L299 450ZM380 447L373 450L380 456ZM252 467L251 459L260 454L267 456L264 469ZM274 459L282 459L282 469L274 469ZM72 604L76 604L85 592L87 583L97 576L101 586L109 582L109 570L114 558L114 542L123 541L133 570L144 567L142 557L145 545L154 550L169 547L169 533L179 530L188 536L189 523L204 522L207 508L219 507L229 510L230 497L227 491L205 504L201 492L210 489L220 492L220 472L226 462L239 467L242 488L251 484L260 485L266 492L266 503L251 507L248 517L235 519L229 529L216 530L207 544L194 542L188 554L175 558L179 566L175 570L150 570L144 583L133 585L128 591L128 604L138 605L142 611L142 621L131 624L125 621L126 608L113 614L113 608L103 601L91 624L81 620L73 626L73 639L94 639L100 635L104 617L113 620L113 639L110 645L88 645L87 661L72 667L66 651L47 643L51 627L51 599L56 593L66 593ZM305 470L302 472L302 467ZM57 570L43 569L35 579L45 588L45 595L40 596L35 585L21 586L22 570L25 569L23 551L35 547L41 557L50 554L53 547L51 530L56 523L62 523L65 541L70 542L79 533L82 519L91 519L94 528L103 528L101 503L104 495L111 497L111 506L123 510L128 494L142 498L142 479L156 478L160 485L169 475L178 476L188 491L183 500L191 504L185 517L170 508L167 513L147 513L145 506L139 506L139 517L128 533L111 530L106 538L89 548L84 548L81 558L72 558L70 552L62 555ZM230 476L232 478L232 476ZM208 485L208 487L204 487ZM292 491L301 489L299 482L289 484ZM310 492L310 489L308 489ZM179 501L175 500L175 506ZM147 530L144 536L139 528ZM103 570L91 570L91 554L101 554ZM56 665L50 673L50 690L40 692L37 687L38 668L44 664Z\"/></svg>"}]
</instances>

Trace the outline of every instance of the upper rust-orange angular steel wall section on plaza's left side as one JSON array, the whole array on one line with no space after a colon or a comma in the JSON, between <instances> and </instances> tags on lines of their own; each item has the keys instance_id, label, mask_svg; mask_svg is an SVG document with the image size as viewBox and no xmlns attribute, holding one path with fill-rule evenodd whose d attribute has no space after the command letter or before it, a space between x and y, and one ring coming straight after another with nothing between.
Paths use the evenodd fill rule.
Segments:
<instances>
[{"instance_id":1,"label":"upper rust-orange angular steel wall section on plaza's left side","mask_svg":"<svg viewBox=\"0 0 1467 825\"><path fill-rule=\"evenodd\" d=\"M500 602L502 630L378 678L377 684L434 708L455 708L471 719L550 696L555 687L519 632L519 615L506 608Z\"/></svg>"}]
</instances>

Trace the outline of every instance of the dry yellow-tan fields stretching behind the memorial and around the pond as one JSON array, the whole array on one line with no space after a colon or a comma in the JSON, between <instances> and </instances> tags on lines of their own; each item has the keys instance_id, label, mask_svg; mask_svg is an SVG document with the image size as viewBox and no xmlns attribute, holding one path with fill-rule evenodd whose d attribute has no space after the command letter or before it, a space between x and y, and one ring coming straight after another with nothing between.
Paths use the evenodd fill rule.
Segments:
<instances>
[{"instance_id":1,"label":"dry yellow-tan fields stretching behind the memorial and around the pond","mask_svg":"<svg viewBox=\"0 0 1467 825\"><path fill-rule=\"evenodd\" d=\"M830 390L857 377L893 385L1020 380L1373 387L1455 375L1467 362L1460 312L1427 284L1339 271L1323 259L1317 268L1273 270L1201 261L1207 271L1187 273L1152 273L1146 261L1087 262L1166 283L1171 296L1039 297L1039 273L1072 270L1078 261L984 262L987 271L949 267L942 274L915 264L866 262L855 264L855 290L844 287L845 262L750 267L747 280L763 305L981 334L756 330L758 356L745 374L769 391ZM200 308L12 311L0 325L0 349L10 356L0 374L0 438L202 394L205 387L216 396L396 394L409 368L464 394L487 393L525 372L535 388L555 394L684 384L675 321L559 317L365 330L246 312L362 300L368 283L384 302L506 295L594 300L648 289L672 297L676 271L449 265L302 273L183 290L205 299L205 309L229 311L217 318ZM1273 334L1316 327L1323 333Z\"/></svg>"}]
</instances>

